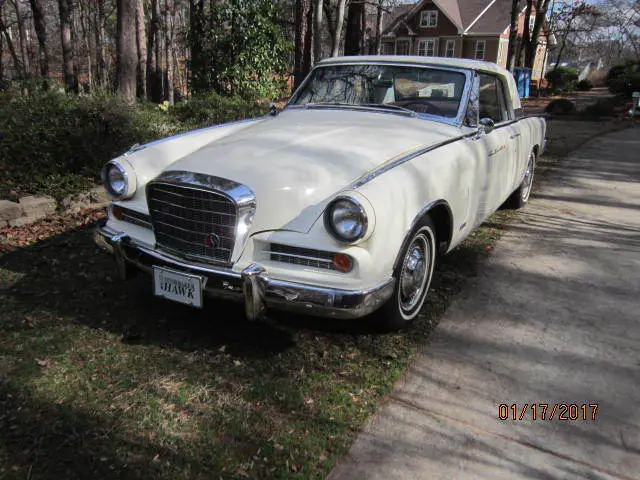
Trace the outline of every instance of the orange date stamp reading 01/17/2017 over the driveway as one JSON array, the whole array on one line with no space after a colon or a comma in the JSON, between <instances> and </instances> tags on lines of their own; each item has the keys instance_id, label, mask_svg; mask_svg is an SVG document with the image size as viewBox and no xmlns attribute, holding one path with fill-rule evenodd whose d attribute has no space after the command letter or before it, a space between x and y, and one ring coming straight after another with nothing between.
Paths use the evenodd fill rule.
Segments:
<instances>
[{"instance_id":1,"label":"orange date stamp reading 01/17/2017 over the driveway","mask_svg":"<svg viewBox=\"0 0 640 480\"><path fill-rule=\"evenodd\" d=\"M498 406L500 420L561 421L597 420L598 403L501 403Z\"/></svg>"}]
</instances>

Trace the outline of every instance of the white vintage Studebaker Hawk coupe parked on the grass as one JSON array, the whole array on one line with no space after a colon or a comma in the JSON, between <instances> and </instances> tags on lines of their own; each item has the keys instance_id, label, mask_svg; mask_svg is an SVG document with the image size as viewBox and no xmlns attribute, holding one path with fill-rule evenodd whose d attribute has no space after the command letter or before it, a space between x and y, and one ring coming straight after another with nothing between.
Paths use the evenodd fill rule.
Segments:
<instances>
[{"instance_id":1,"label":"white vintage Studebaker Hawk coupe parked on the grass","mask_svg":"<svg viewBox=\"0 0 640 480\"><path fill-rule=\"evenodd\" d=\"M137 147L105 165L95 239L127 278L202 307L411 322L439 254L524 205L545 139L486 62L319 62L282 112Z\"/></svg>"}]
</instances>

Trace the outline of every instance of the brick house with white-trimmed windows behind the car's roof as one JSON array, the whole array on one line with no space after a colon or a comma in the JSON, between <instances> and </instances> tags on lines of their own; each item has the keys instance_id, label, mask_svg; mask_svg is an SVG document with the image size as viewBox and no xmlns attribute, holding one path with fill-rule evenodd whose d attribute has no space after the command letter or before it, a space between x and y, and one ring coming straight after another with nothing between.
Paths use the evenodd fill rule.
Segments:
<instances>
[{"instance_id":1,"label":"brick house with white-trimmed windows behind the car's roof","mask_svg":"<svg viewBox=\"0 0 640 480\"><path fill-rule=\"evenodd\" d=\"M519 38L524 10L523 6ZM382 32L381 53L473 58L506 66L510 21L511 0L421 0L388 23ZM544 77L546 49L543 25L532 71L535 81Z\"/></svg>"}]
</instances>

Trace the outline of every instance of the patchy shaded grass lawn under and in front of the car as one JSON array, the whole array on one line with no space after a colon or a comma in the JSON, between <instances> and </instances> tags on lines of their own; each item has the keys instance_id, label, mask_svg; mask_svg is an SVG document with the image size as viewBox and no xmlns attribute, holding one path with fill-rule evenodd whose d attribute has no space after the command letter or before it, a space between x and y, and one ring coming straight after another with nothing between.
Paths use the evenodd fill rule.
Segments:
<instances>
[{"instance_id":1,"label":"patchy shaded grass lawn under and in front of the car","mask_svg":"<svg viewBox=\"0 0 640 480\"><path fill-rule=\"evenodd\" d=\"M576 142L559 123L542 166ZM512 216L448 255L415 327L387 335L154 298L77 219L28 245L5 230L24 246L0 257L0 478L323 478Z\"/></svg>"}]
</instances>

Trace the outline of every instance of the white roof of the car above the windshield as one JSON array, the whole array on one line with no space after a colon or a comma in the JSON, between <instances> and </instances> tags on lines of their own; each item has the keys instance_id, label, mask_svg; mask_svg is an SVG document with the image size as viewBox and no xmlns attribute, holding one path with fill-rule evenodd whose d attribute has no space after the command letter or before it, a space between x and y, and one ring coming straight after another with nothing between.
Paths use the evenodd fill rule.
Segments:
<instances>
[{"instance_id":1,"label":"white roof of the car above the windshield","mask_svg":"<svg viewBox=\"0 0 640 480\"><path fill-rule=\"evenodd\" d=\"M318 65L339 65L346 63L402 63L481 70L483 72L499 73L501 75L509 74L507 69L491 62L470 60L468 58L423 57L416 55L354 55L332 57L318 62Z\"/></svg>"}]
</instances>

